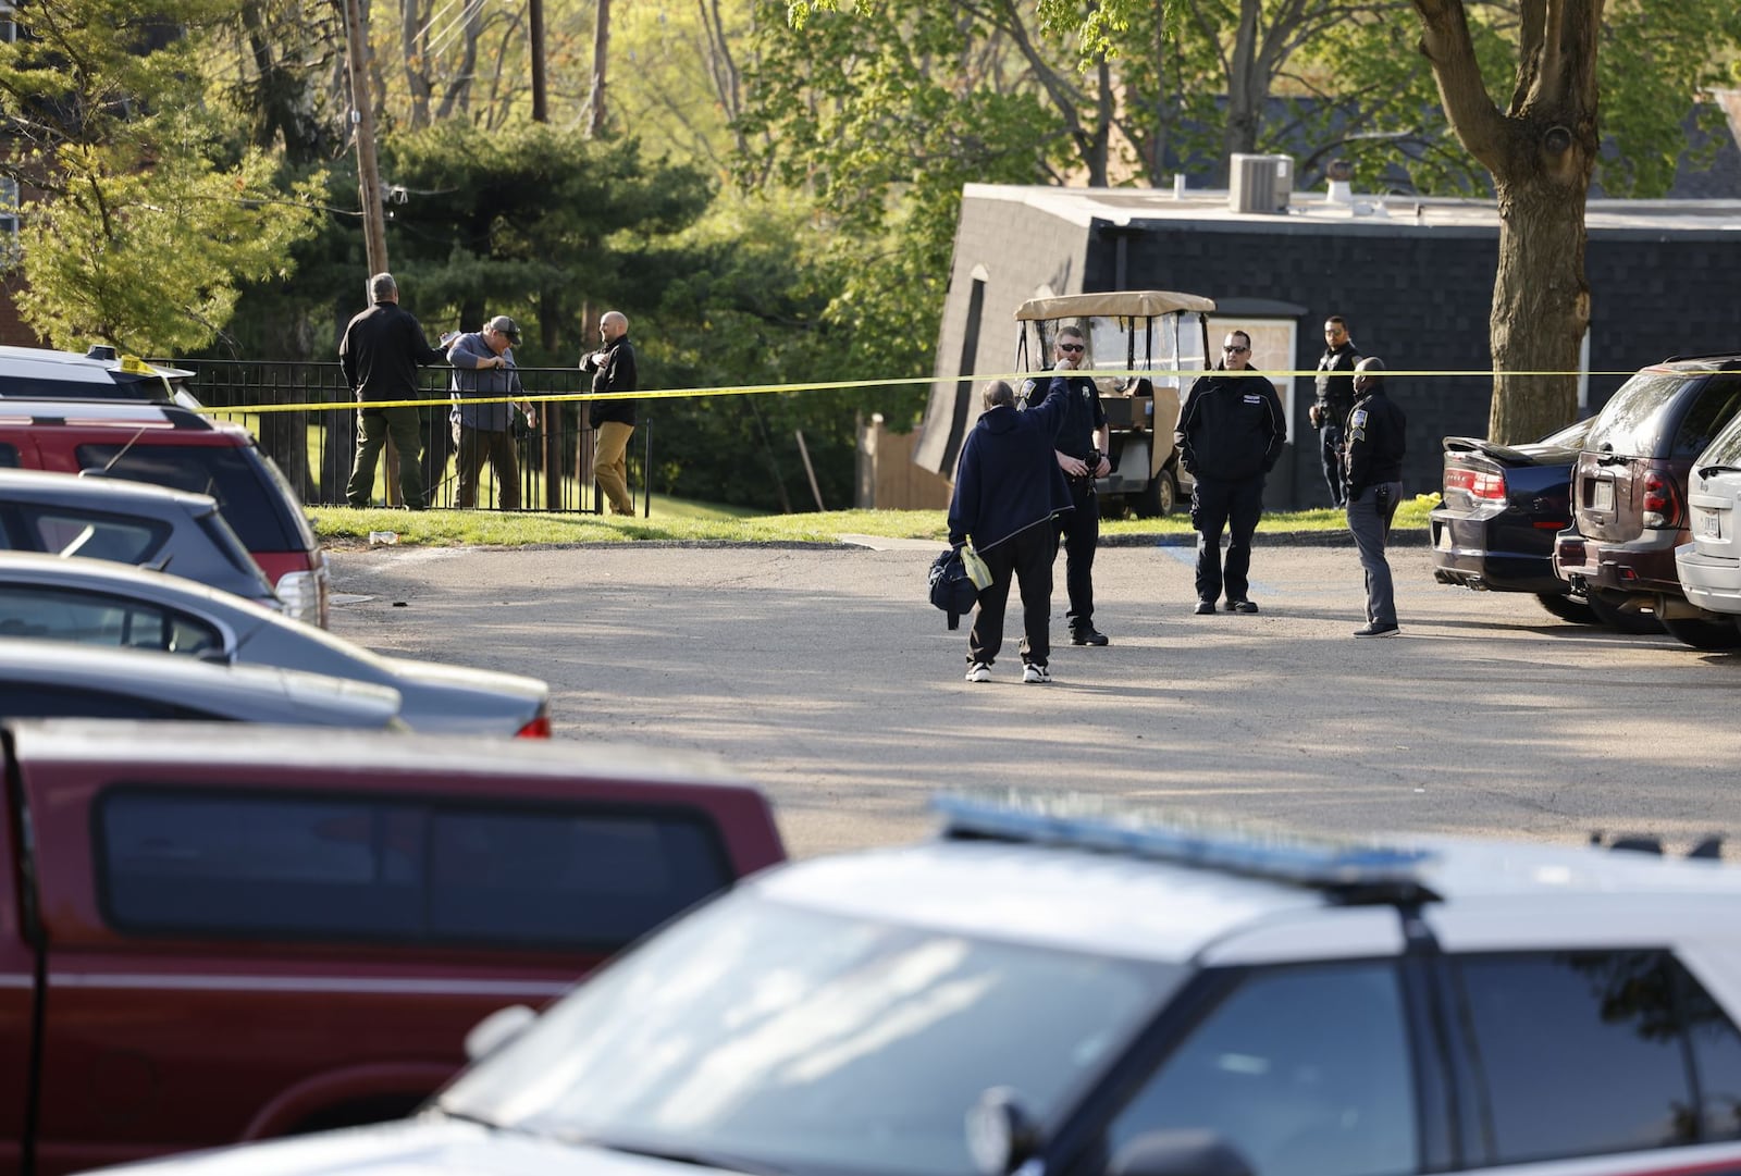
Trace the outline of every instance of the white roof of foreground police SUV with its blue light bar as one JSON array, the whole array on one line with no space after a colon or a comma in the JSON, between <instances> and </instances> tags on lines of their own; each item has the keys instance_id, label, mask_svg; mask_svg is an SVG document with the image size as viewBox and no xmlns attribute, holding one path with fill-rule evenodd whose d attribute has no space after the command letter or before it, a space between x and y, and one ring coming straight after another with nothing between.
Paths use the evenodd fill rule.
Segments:
<instances>
[{"instance_id":1,"label":"white roof of foreground police SUV with its blue light bar","mask_svg":"<svg viewBox=\"0 0 1741 1176\"><path fill-rule=\"evenodd\" d=\"M1741 870L1720 861L1431 835L1278 837L1125 811L1064 828L1043 818L1024 832L1029 800L944 807L933 842L797 863L757 889L879 922L1175 964L1349 906L1586 912L1616 894L1656 896L1657 908L1663 896L1704 896L1741 915ZM1330 865L1313 873L1302 863L1320 849Z\"/></svg>"}]
</instances>

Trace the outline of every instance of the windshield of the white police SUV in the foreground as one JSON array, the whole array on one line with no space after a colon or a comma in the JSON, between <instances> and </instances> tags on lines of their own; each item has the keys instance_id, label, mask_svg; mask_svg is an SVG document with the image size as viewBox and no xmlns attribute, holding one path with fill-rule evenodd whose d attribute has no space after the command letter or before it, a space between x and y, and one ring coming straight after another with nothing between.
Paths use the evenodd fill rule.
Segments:
<instances>
[{"instance_id":1,"label":"windshield of the white police SUV in the foreground","mask_svg":"<svg viewBox=\"0 0 1741 1176\"><path fill-rule=\"evenodd\" d=\"M738 891L575 990L439 1105L747 1171L966 1176L963 1120L985 1091L1055 1120L1180 974Z\"/></svg>"}]
</instances>

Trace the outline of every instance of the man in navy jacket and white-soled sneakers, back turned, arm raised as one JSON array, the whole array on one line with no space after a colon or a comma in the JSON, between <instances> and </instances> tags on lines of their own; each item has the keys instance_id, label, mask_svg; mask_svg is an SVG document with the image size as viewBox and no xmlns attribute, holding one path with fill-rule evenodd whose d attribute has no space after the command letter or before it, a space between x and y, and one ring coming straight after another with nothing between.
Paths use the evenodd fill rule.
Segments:
<instances>
[{"instance_id":1,"label":"man in navy jacket and white-soled sneakers, back turned, arm raised","mask_svg":"<svg viewBox=\"0 0 1741 1176\"><path fill-rule=\"evenodd\" d=\"M1052 680L1052 562L1059 555L1052 518L1072 508L1053 444L1067 402L1064 381L1053 381L1045 402L1027 412L1017 412L1015 390L1001 379L980 390L984 412L961 445L949 501L949 545L971 538L991 569L968 633L968 682L991 682L1012 576L1022 586L1022 682Z\"/></svg>"}]
</instances>

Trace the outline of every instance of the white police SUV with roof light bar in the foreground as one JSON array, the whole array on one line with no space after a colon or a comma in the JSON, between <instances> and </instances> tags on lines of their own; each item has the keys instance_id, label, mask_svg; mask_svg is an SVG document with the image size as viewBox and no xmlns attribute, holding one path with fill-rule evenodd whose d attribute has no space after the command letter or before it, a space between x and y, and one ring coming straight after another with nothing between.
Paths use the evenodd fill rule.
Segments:
<instances>
[{"instance_id":1,"label":"white police SUV with roof light bar in the foreground","mask_svg":"<svg viewBox=\"0 0 1741 1176\"><path fill-rule=\"evenodd\" d=\"M677 920L413 1120L141 1173L1741 1169L1722 863L947 819Z\"/></svg>"}]
</instances>

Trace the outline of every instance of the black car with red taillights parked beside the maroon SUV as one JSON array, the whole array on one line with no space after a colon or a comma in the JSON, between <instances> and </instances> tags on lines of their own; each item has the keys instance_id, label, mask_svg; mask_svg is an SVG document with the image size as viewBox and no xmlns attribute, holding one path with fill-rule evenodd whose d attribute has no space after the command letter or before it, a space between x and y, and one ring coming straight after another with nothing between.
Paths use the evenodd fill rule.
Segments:
<instances>
[{"instance_id":1,"label":"black car with red taillights parked beside the maroon SUV","mask_svg":"<svg viewBox=\"0 0 1741 1176\"><path fill-rule=\"evenodd\" d=\"M1572 524L1572 464L1591 421L1527 445L1445 438L1440 504L1428 513L1433 579L1478 591L1529 591L1567 621L1596 616L1553 574L1553 538Z\"/></svg>"}]
</instances>

